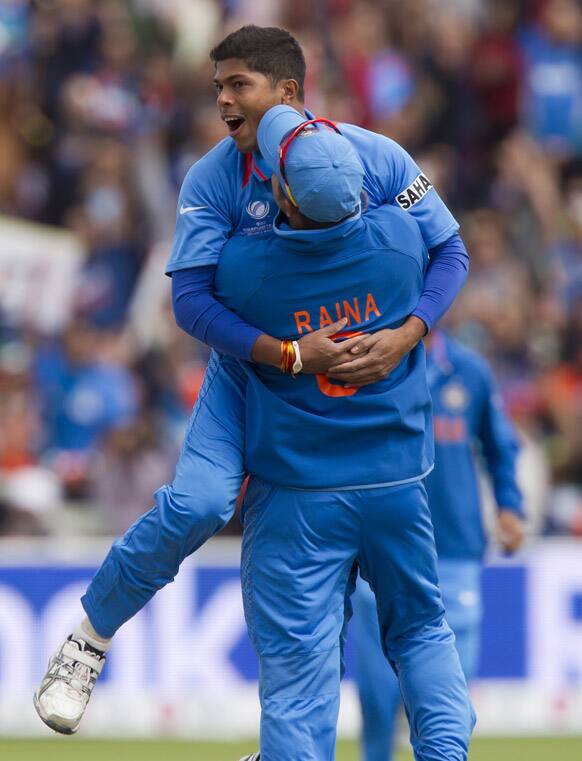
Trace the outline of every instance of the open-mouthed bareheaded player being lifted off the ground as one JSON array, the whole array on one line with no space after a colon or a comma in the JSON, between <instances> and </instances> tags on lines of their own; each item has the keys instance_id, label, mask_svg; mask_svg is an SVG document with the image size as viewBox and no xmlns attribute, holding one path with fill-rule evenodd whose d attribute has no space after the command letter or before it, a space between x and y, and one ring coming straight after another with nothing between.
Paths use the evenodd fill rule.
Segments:
<instances>
[{"instance_id":1,"label":"open-mouthed bareheaded player being lifted off the ground","mask_svg":"<svg viewBox=\"0 0 582 761\"><path fill-rule=\"evenodd\" d=\"M255 26L230 34L211 59L229 136L184 180L167 273L178 324L215 351L173 483L156 492L154 507L111 547L82 598L86 618L51 658L35 694L41 719L65 734L79 726L117 629L172 581L182 560L233 513L249 430L244 374L229 372L227 358L273 368L284 359L279 338L222 304L214 281L228 241L262 242L273 235L271 169L258 150L257 126L280 104L310 116L303 102L305 60L288 32ZM364 168L367 209L390 204L404 210L418 224L430 254L422 293L399 327L336 343L330 337L348 321L342 302L331 324L299 337L303 373L363 387L388 376L446 311L466 277L468 257L457 222L410 156L386 137L348 124L340 128Z\"/></svg>"}]
</instances>

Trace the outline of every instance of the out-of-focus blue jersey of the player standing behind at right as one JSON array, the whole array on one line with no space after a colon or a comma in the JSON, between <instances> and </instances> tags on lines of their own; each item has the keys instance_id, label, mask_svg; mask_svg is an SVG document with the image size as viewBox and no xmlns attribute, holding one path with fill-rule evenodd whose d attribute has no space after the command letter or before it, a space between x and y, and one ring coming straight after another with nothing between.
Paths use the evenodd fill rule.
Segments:
<instances>
[{"instance_id":1,"label":"out-of-focus blue jersey of the player standing behind at right","mask_svg":"<svg viewBox=\"0 0 582 761\"><path fill-rule=\"evenodd\" d=\"M475 456L481 455L499 507L522 513L515 480L516 432L491 370L478 354L433 333L427 359L435 468L426 487L440 558L480 559L486 545Z\"/></svg>"}]
</instances>

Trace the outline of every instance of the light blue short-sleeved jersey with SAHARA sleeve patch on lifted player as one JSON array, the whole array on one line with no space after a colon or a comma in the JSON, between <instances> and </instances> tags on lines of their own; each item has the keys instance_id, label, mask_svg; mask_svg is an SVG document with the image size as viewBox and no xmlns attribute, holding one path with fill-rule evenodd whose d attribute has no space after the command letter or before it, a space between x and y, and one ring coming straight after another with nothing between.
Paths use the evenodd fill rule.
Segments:
<instances>
[{"instance_id":1,"label":"light blue short-sleeved jersey with SAHARA sleeve patch on lifted player","mask_svg":"<svg viewBox=\"0 0 582 761\"><path fill-rule=\"evenodd\" d=\"M384 204L398 206L416 220L429 249L457 232L451 212L403 148L375 132L338 126L364 166L364 212ZM260 154L240 153L230 137L197 161L180 191L166 272L216 264L234 235L270 235L277 211L270 175Z\"/></svg>"}]
</instances>

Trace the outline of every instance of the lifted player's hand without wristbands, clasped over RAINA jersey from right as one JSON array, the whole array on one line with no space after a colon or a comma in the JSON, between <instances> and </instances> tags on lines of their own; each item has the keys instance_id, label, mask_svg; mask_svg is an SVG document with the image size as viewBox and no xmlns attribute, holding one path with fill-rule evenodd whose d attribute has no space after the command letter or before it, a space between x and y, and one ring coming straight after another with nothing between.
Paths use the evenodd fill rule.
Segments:
<instances>
[{"instance_id":1,"label":"lifted player's hand without wristbands, clasped over RAINA jersey from right","mask_svg":"<svg viewBox=\"0 0 582 761\"><path fill-rule=\"evenodd\" d=\"M376 383L394 370L402 357L420 341L425 331L424 322L417 317L410 317L396 330L379 330L357 342L350 349L352 358L330 367L327 375L343 381L347 386L360 387Z\"/></svg>"}]
</instances>

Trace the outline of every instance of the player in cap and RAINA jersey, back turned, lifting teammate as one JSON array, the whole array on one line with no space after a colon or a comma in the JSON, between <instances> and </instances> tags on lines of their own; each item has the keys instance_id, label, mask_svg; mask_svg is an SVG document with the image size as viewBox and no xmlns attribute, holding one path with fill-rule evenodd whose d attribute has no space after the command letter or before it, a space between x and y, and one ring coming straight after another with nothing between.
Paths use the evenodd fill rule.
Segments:
<instances>
[{"instance_id":1,"label":"player in cap and RAINA jersey, back turned, lifting teammate","mask_svg":"<svg viewBox=\"0 0 582 761\"><path fill-rule=\"evenodd\" d=\"M284 343L340 309L349 333L398 329L424 287L418 225L389 205L362 218L363 167L340 132L283 105L265 114L258 141L285 188L276 192L284 214L274 236L233 237L220 258L222 303L288 336ZM416 759L465 759L473 716L443 617L422 483L433 465L424 346L363 388L298 374L296 350L286 374L242 366L252 474L242 585L260 662L260 759L333 759L346 596L358 567L375 593Z\"/></svg>"}]
</instances>

